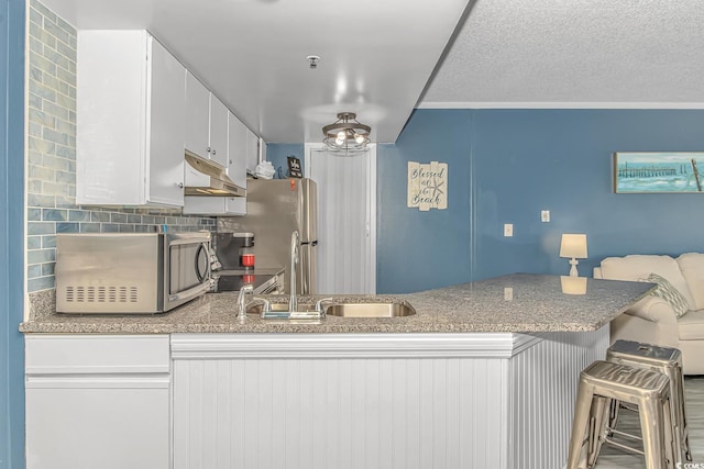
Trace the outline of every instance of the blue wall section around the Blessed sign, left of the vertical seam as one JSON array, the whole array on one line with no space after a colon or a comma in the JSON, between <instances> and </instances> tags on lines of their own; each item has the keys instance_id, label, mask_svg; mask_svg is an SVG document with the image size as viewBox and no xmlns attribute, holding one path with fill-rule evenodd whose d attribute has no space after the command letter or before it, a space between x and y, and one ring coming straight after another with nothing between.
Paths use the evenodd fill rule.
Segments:
<instances>
[{"instance_id":1,"label":"blue wall section around the Blessed sign, left of the vertical seam","mask_svg":"<svg viewBox=\"0 0 704 469\"><path fill-rule=\"evenodd\" d=\"M395 145L377 147L377 292L470 281L470 116L416 111ZM406 206L408 161L448 164L447 210Z\"/></svg>"}]
</instances>

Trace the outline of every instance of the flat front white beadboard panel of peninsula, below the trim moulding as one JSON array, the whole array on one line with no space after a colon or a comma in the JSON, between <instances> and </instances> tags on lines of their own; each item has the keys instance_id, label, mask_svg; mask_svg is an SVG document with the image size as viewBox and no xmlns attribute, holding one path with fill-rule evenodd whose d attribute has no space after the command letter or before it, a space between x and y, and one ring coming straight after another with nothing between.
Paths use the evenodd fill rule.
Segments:
<instances>
[{"instance_id":1,"label":"flat front white beadboard panel of peninsula, below the trim moulding","mask_svg":"<svg viewBox=\"0 0 704 469\"><path fill-rule=\"evenodd\" d=\"M174 468L498 467L501 361L176 360Z\"/></svg>"}]
</instances>

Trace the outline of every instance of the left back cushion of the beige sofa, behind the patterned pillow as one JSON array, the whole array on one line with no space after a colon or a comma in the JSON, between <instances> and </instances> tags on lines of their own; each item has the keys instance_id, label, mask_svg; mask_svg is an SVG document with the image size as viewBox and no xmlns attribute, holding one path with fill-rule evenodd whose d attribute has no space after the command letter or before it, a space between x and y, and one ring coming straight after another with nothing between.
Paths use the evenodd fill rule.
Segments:
<instances>
[{"instance_id":1,"label":"left back cushion of the beige sofa, behind the patterned pillow","mask_svg":"<svg viewBox=\"0 0 704 469\"><path fill-rule=\"evenodd\" d=\"M680 265L670 256L631 254L625 257L607 257L602 260L602 276L610 280L645 280L650 273L664 277L686 300L690 310L696 310Z\"/></svg>"}]
</instances>

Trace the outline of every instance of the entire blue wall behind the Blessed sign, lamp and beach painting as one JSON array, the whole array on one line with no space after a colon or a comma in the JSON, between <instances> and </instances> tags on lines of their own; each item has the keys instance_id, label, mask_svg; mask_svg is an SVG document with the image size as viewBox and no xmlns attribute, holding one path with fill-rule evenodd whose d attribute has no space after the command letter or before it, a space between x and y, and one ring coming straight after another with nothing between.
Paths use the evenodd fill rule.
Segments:
<instances>
[{"instance_id":1,"label":"entire blue wall behind the Blessed sign, lamp and beach painting","mask_svg":"<svg viewBox=\"0 0 704 469\"><path fill-rule=\"evenodd\" d=\"M418 110L378 150L377 291L565 275L562 233L587 234L583 276L612 255L702 252L704 194L615 194L612 154L702 152L703 129L698 110ZM406 208L409 160L449 164L448 210Z\"/></svg>"}]
</instances>

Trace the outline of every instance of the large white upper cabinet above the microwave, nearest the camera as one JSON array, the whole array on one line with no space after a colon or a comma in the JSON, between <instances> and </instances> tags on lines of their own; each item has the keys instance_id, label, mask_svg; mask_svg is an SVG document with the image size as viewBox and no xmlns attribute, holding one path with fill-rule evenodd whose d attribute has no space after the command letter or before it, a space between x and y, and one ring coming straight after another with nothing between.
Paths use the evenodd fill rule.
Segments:
<instances>
[{"instance_id":1,"label":"large white upper cabinet above the microwave, nearest the camera","mask_svg":"<svg viewBox=\"0 0 704 469\"><path fill-rule=\"evenodd\" d=\"M76 203L184 204L186 69L146 31L79 31Z\"/></svg>"}]
</instances>

